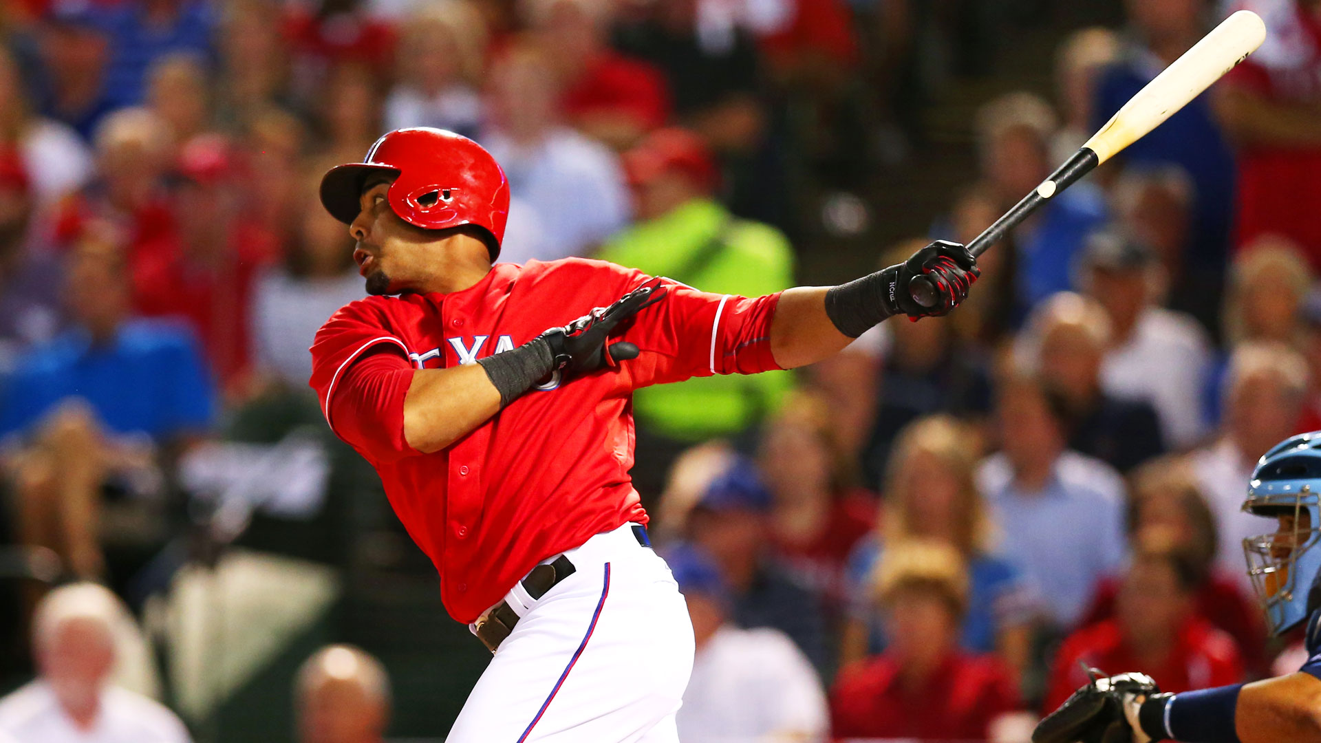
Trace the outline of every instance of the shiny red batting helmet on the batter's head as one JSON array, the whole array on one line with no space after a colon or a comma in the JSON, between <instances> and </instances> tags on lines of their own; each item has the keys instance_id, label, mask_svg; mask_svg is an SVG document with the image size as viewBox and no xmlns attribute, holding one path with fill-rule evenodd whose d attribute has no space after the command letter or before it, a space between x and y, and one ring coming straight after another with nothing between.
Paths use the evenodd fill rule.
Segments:
<instances>
[{"instance_id":1,"label":"shiny red batting helmet on the batter's head","mask_svg":"<svg viewBox=\"0 0 1321 743\"><path fill-rule=\"evenodd\" d=\"M398 176L386 200L403 221L428 230L482 227L490 234L491 260L499 254L509 218L509 180L482 145L444 130L395 130L378 139L362 163L332 168L321 178L326 212L353 223L362 185L374 172Z\"/></svg>"}]
</instances>

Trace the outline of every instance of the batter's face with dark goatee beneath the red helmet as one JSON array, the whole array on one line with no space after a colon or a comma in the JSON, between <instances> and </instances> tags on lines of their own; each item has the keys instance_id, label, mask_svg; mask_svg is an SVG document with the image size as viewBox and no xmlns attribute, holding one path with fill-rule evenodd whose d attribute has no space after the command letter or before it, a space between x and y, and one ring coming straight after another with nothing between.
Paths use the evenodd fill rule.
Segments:
<instances>
[{"instance_id":1,"label":"batter's face with dark goatee beneath the red helmet","mask_svg":"<svg viewBox=\"0 0 1321 743\"><path fill-rule=\"evenodd\" d=\"M421 286L431 278L424 230L399 218L390 208L386 193L394 178L367 178L358 200L358 217L349 225L357 241L353 260L367 280L367 293L399 293Z\"/></svg>"}]
</instances>

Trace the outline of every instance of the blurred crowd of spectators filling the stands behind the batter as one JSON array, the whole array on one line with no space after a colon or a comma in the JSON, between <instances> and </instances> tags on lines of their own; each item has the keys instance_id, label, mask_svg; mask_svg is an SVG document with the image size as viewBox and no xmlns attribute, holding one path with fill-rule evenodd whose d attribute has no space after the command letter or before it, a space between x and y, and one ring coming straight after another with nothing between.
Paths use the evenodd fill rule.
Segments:
<instances>
[{"instance_id":1,"label":"blurred crowd of spectators filling the stands behind the batter","mask_svg":"<svg viewBox=\"0 0 1321 743\"><path fill-rule=\"evenodd\" d=\"M1268 447L1321 428L1321 1L1104 5L1050 90L955 124L975 172L877 266L974 238L1230 11L1268 38L984 254L948 319L637 394L634 481L697 637L686 743L1024 740L1085 665L1166 691L1293 670L1243 566L1271 528L1239 505ZM502 260L770 293L820 247L803 196L942 147L933 89L991 78L993 29L1050 7L5 4L0 666L38 678L0 702L0 742L186 740L151 684L106 686L186 565L244 539L350 580L383 559L346 543L363 498L328 493L379 492L306 389L314 331L363 296L328 165L453 130L509 175ZM296 689L303 739L382 739L363 650L318 652Z\"/></svg>"}]
</instances>

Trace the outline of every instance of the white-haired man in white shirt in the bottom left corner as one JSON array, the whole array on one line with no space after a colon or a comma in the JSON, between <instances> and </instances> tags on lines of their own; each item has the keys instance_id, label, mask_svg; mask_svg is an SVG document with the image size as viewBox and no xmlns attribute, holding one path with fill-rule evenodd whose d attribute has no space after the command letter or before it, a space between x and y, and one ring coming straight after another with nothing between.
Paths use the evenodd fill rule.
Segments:
<instances>
[{"instance_id":1,"label":"white-haired man in white shirt in the bottom left corner","mask_svg":"<svg viewBox=\"0 0 1321 743\"><path fill-rule=\"evenodd\" d=\"M17 743L188 743L164 706L111 686L116 625L132 621L107 588L55 588L33 616L36 681L0 699L0 740Z\"/></svg>"}]
</instances>

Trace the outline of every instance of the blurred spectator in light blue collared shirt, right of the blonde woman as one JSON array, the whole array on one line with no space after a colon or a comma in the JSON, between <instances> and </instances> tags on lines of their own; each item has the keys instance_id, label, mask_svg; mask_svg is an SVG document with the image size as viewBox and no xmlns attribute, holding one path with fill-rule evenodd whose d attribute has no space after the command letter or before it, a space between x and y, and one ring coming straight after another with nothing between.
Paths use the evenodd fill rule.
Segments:
<instances>
[{"instance_id":1,"label":"blurred spectator in light blue collared shirt, right of the blonde woman","mask_svg":"<svg viewBox=\"0 0 1321 743\"><path fill-rule=\"evenodd\" d=\"M1065 415L1041 382L1003 379L1000 452L976 472L1004 534L1001 554L1041 591L1044 619L1055 628L1074 625L1096 580L1124 559L1123 480L1067 448Z\"/></svg>"}]
</instances>

